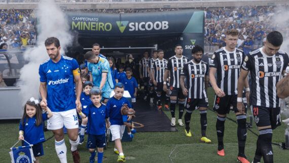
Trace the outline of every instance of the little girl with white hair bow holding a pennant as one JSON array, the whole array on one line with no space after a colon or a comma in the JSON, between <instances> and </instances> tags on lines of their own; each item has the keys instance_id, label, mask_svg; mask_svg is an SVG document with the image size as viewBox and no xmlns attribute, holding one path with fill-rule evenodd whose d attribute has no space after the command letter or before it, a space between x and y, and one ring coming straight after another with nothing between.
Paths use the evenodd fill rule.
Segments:
<instances>
[{"instance_id":1,"label":"little girl with white hair bow holding a pennant","mask_svg":"<svg viewBox=\"0 0 289 163\"><path fill-rule=\"evenodd\" d=\"M39 101L31 97L25 104L24 114L19 125L19 140L25 140L33 144L32 151L35 162L39 163L39 157L44 155L42 142L45 141L43 122L53 116L51 110L46 107L46 113L42 113ZM24 145L28 145L24 142Z\"/></svg>"}]
</instances>

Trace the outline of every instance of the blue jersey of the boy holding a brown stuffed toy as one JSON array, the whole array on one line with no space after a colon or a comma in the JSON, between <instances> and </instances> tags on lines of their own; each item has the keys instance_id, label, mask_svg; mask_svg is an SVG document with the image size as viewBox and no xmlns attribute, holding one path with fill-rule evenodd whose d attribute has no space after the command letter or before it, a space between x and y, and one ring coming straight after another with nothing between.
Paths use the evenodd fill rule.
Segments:
<instances>
[{"instance_id":1,"label":"blue jersey of the boy holding a brown stuffed toy","mask_svg":"<svg viewBox=\"0 0 289 163\"><path fill-rule=\"evenodd\" d=\"M111 125L123 125L121 107L124 104L127 104L127 106L131 108L131 105L126 97L122 97L120 100L118 100L113 96L109 101L107 101L106 107L109 113Z\"/></svg>"}]
</instances>

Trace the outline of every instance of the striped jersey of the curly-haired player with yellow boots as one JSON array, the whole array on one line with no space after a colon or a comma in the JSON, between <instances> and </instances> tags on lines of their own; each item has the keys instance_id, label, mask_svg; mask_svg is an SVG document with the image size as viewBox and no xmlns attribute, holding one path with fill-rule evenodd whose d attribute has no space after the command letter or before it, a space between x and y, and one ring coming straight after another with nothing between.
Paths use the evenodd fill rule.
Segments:
<instances>
[{"instance_id":1,"label":"striped jersey of the curly-haired player with yellow boots","mask_svg":"<svg viewBox=\"0 0 289 163\"><path fill-rule=\"evenodd\" d=\"M205 76L208 74L208 63L201 60L195 63L193 60L188 61L180 75L186 77L189 99L207 98L205 89Z\"/></svg>"}]
</instances>

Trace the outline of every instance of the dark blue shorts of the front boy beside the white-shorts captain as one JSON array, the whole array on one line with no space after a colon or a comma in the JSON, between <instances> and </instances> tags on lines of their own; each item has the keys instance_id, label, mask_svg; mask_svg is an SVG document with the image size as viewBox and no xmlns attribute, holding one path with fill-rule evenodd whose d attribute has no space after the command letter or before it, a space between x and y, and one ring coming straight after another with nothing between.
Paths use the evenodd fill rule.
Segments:
<instances>
[{"instance_id":1,"label":"dark blue shorts of the front boy beside the white-shorts captain","mask_svg":"<svg viewBox=\"0 0 289 163\"><path fill-rule=\"evenodd\" d=\"M86 148L95 149L96 147L103 148L105 146L106 146L105 134L102 135L88 134Z\"/></svg>"}]
</instances>

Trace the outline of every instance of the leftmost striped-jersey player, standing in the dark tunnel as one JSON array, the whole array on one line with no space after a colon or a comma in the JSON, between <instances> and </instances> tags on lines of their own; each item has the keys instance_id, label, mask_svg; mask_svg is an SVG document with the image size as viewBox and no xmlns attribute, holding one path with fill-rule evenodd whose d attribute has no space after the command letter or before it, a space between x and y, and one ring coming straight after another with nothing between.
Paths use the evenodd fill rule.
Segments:
<instances>
[{"instance_id":1,"label":"leftmost striped-jersey player, standing in the dark tunnel","mask_svg":"<svg viewBox=\"0 0 289 163\"><path fill-rule=\"evenodd\" d=\"M144 97L143 100L147 100L148 97L148 82L150 81L150 75L148 73L147 65L149 64L150 54L148 51L144 51L143 58L139 61L139 78L141 79L141 84L144 86Z\"/></svg>"}]
</instances>

